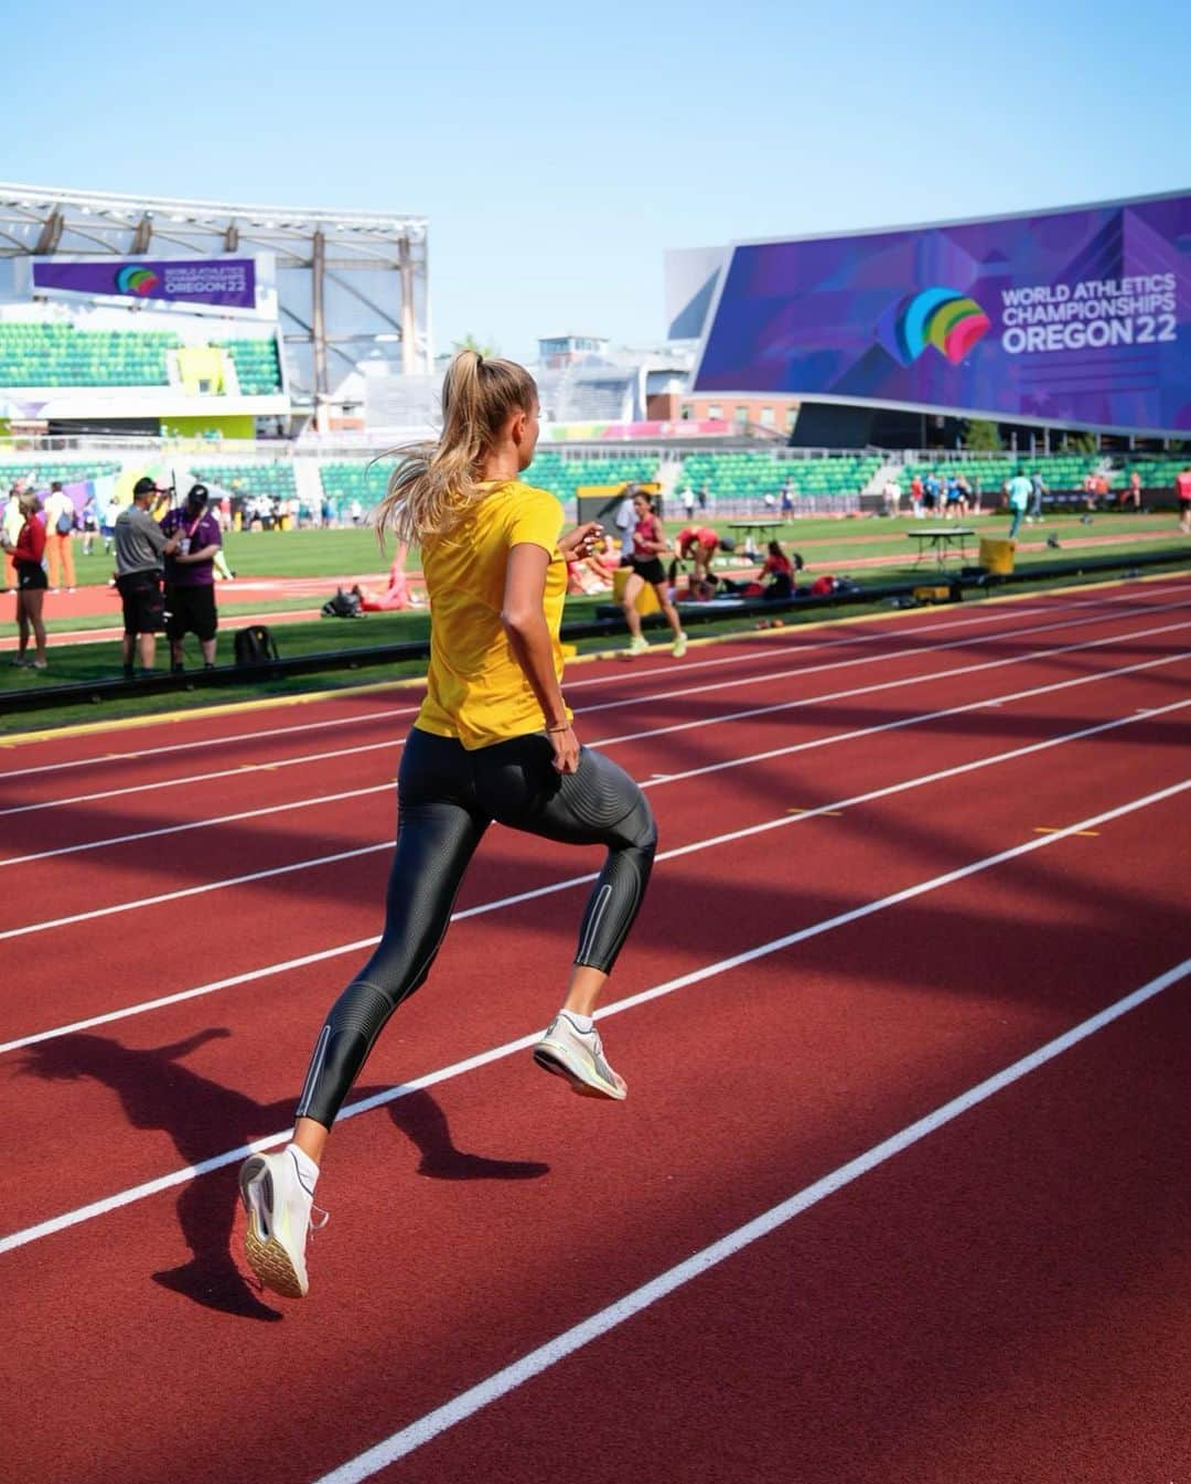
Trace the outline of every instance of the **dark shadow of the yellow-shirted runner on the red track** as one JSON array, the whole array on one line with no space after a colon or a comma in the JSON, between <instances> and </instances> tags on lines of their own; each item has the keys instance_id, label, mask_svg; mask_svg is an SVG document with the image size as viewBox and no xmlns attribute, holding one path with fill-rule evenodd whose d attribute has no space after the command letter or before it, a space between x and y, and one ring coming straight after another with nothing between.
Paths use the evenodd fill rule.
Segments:
<instances>
[{"instance_id":1,"label":"dark shadow of the yellow-shirted runner on the red track","mask_svg":"<svg viewBox=\"0 0 1191 1484\"><path fill-rule=\"evenodd\" d=\"M236 1158L220 1169L205 1169L212 1150L237 1149L289 1125L294 1100L257 1103L179 1066L181 1058L231 1031L209 1027L168 1046L136 1051L104 1036L58 1036L30 1046L21 1071L46 1082L93 1077L120 1098L133 1128L162 1129L188 1166L209 1178L187 1180L178 1195L178 1223L191 1257L178 1267L153 1273L154 1282L194 1303L245 1319L280 1319L263 1303L231 1258L231 1233L239 1187ZM359 1098L384 1088L357 1088ZM549 1172L532 1160L486 1159L455 1149L442 1109L429 1092L397 1098L389 1109L393 1123L421 1155L418 1174L438 1180L531 1180Z\"/></svg>"}]
</instances>

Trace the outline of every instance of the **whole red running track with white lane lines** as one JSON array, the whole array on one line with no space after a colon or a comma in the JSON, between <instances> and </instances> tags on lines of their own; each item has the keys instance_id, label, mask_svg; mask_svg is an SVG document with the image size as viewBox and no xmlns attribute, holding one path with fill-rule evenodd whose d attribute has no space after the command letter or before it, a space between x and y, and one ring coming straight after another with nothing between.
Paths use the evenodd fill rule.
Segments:
<instances>
[{"instance_id":1,"label":"whole red running track with white lane lines","mask_svg":"<svg viewBox=\"0 0 1191 1484\"><path fill-rule=\"evenodd\" d=\"M577 668L573 703L617 702L583 735L632 738L610 752L654 781L663 850L685 852L660 862L610 985L630 1098L571 1098L518 1045L553 1008L581 884L458 922L354 1097L383 1101L332 1141L334 1220L301 1304L263 1301L227 1255L234 1166L285 1129L354 959L264 971L375 932L387 853L133 902L326 841L380 844L396 754L359 754L352 784L378 792L357 804L292 807L344 782L337 760L237 769L218 812L276 813L71 847L199 822L200 755L383 742L384 723L360 720L377 696L188 718L176 752L153 749L176 726L150 729L135 767L89 761L128 735L39 746L55 769L24 779L33 752L0 755L9 807L39 806L0 816L3 855L70 850L0 868L3 928L59 901L101 911L4 941L0 1034L25 1040L0 1057L13 1475L314 1480L365 1456L352 1477L1178 1478L1187 592L691 651L721 668ZM868 663L811 669L844 659ZM764 680L659 699L679 671ZM298 717L329 724L264 735ZM194 749L220 729L255 741ZM777 755L742 761L759 752ZM494 831L460 907L593 865ZM574 1325L607 1324L641 1285L1170 971L1120 1020L558 1353ZM240 982L133 1012L218 976ZM113 1018L65 1030L98 1015ZM395 1095L402 1079L423 1085ZM214 1168L185 1178L196 1163ZM512 1385L543 1346L544 1370ZM489 1379L489 1404L460 1399Z\"/></svg>"}]
</instances>

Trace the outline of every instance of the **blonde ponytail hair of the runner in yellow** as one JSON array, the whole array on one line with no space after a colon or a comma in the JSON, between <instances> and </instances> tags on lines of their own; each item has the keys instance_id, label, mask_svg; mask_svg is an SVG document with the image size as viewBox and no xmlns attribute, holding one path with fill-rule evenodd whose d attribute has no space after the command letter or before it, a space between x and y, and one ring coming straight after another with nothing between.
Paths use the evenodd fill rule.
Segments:
<instances>
[{"instance_id":1,"label":"blonde ponytail hair of the runner in yellow","mask_svg":"<svg viewBox=\"0 0 1191 1484\"><path fill-rule=\"evenodd\" d=\"M442 438L399 448L372 519L384 536L424 545L445 536L488 493L481 475L510 413L537 407L534 378L515 361L460 350L442 383Z\"/></svg>"}]
</instances>

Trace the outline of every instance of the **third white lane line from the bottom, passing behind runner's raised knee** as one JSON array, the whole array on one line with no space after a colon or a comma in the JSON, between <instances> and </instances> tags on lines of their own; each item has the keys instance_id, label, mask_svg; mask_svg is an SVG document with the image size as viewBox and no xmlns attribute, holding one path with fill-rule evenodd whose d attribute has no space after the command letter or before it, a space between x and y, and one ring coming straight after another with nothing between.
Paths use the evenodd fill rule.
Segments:
<instances>
[{"instance_id":1,"label":"third white lane line from the bottom, passing behind runner's raised knee","mask_svg":"<svg viewBox=\"0 0 1191 1484\"><path fill-rule=\"evenodd\" d=\"M693 855L699 850L710 850L721 844L731 844L736 840L748 840L752 835L768 834L771 830L785 830L789 825L805 824L808 819L819 819L828 815L841 813L844 809L853 809L857 804L875 803L881 798L891 798L897 794L909 792L915 788L924 788L928 784L937 784L948 778L958 778L963 773L974 773L985 767L997 767L1001 763L1010 763L1020 757L1029 757L1035 752L1046 752L1050 748L1063 746L1068 742L1083 741L1084 738L1099 736L1105 732L1114 732L1118 727L1132 726L1136 721L1149 720L1154 717L1166 715L1172 711L1182 711L1191 706L1191 700L1176 700L1167 706L1160 706L1152 711L1145 712L1130 712L1127 717L1118 717L1112 721L1102 721L1093 727L1083 727L1080 732L1066 732L1058 738L1047 738L1044 742L1031 742L1026 746L1015 748L1009 752L998 752L994 757L977 758L971 763L958 763L954 767L942 769L936 773L924 773L921 778L903 779L899 784L888 784L884 788L874 788L866 794L854 794L851 798L834 800L828 804L819 804L816 809L804 809L796 815L780 815L777 819L767 819L758 825L746 825L740 830L731 830L727 834L709 835L706 840L694 840L688 844L672 846L669 850L660 850L656 856L657 861L676 861L684 855ZM722 764L712 764L709 772L721 767ZM1182 787L1182 785L1179 785ZM1178 788L1175 789L1178 792ZM1066 831L1062 831L1066 834ZM1058 835L1043 835L1040 840L1049 841L1055 840ZM1035 844L1038 841L1034 841ZM589 881L595 881L598 877L596 871L587 871L583 876L573 876L561 881L552 881L549 886L537 886L531 890L516 892L512 896L501 896L491 902L481 902L476 907L467 907L463 911L451 914L449 922L461 922L466 917L481 917L485 913L498 911L504 907L516 907L521 902L535 901L541 896L552 896L555 892L567 892L575 886L584 886ZM181 1005L184 1000L199 999L205 994L214 994L217 990L231 988L239 984L251 984L254 979L271 978L273 975L283 974L289 969L304 968L310 963L320 963L326 959L334 959L340 954L357 953L363 948L372 948L380 942L380 935L371 938L359 938L354 942L343 944L338 948L323 948L319 953L306 954L300 959L288 959L283 963L267 965L263 969L249 969L246 974L237 974L225 979L215 979L211 984L200 984L191 990L179 990L176 994L166 994L156 1000L147 1000L141 1005L126 1006L119 1011L105 1011L101 1015L92 1015L86 1020L73 1021L68 1025L58 1025L53 1030L36 1031L30 1036L22 1036L16 1040L9 1040L0 1045L0 1055L9 1051L18 1051L22 1046L33 1046L40 1040L52 1040L58 1036L68 1036L74 1031L90 1030L95 1025L108 1025L113 1021L131 1020L133 1015L144 1015L148 1011L162 1009L168 1005Z\"/></svg>"}]
</instances>

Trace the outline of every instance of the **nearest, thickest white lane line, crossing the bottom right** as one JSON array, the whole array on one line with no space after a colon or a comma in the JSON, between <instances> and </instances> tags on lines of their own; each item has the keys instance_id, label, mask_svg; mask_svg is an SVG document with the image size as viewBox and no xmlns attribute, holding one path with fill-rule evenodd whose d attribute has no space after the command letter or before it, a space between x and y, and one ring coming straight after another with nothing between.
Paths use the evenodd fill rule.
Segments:
<instances>
[{"instance_id":1,"label":"nearest, thickest white lane line, crossing the bottom right","mask_svg":"<svg viewBox=\"0 0 1191 1484\"><path fill-rule=\"evenodd\" d=\"M1031 1051L1026 1057L1003 1067L1001 1071L994 1073L994 1076L985 1077L983 1082L977 1082L966 1092L961 1092L958 1097L951 1098L937 1109L933 1109L924 1117L917 1119L914 1123L908 1123L906 1128L900 1129L897 1134L891 1134L880 1144L874 1144L871 1149L865 1150L863 1155L857 1155L856 1159L850 1159L847 1163L839 1165L829 1174L816 1180L813 1184L804 1186L796 1195L792 1195L779 1205L771 1206L762 1215L755 1217L745 1226L739 1226L734 1232L728 1232L728 1235L719 1238L718 1242L712 1242L709 1247L694 1252L676 1266L669 1267L656 1278L651 1278L647 1284L642 1284L632 1293L624 1294L623 1298L617 1298L616 1303L608 1304L605 1309L599 1309L580 1324L573 1325L562 1334L555 1336L555 1339L547 1340L544 1345L537 1346L537 1349L522 1355L519 1361L513 1361L512 1365L506 1365L503 1370L495 1371L478 1386L472 1386L466 1392L460 1392L460 1395L452 1396L451 1401L445 1402L442 1407L436 1407L433 1411L426 1413L415 1422L408 1423L399 1432L395 1432L383 1442L375 1444L375 1447L368 1448L365 1453L357 1454L346 1463L341 1463L329 1474L323 1474L316 1484L362 1484L363 1480L371 1478L381 1469L389 1468L399 1459L406 1457L424 1442L429 1442L432 1438L438 1438L449 1428L458 1426L458 1423L473 1417L478 1411L482 1411L501 1396L507 1396L510 1392L524 1386L535 1376L541 1376L543 1371L549 1370L552 1365L558 1365L559 1361L564 1361L568 1355L574 1355L575 1350L590 1345L592 1340L598 1340L610 1330L624 1324L626 1319L632 1319L644 1309L656 1304L660 1298L664 1298L667 1294L685 1287L685 1284L700 1278L703 1273L709 1272L727 1258L734 1257L752 1242L756 1242L761 1238L768 1236L771 1232L776 1232L779 1227L786 1226L796 1215L801 1215L813 1205L817 1205L817 1202L835 1195L838 1190L850 1186L854 1180L859 1180L869 1171L884 1165L885 1160L900 1155L912 1144L917 1144L920 1140L927 1138L927 1135L945 1128L963 1113L967 1113L980 1103L1012 1086L1015 1082L1019 1082L1022 1077L1029 1076L1029 1073L1044 1067L1049 1061L1053 1061L1063 1052L1071 1051L1072 1046L1078 1046L1080 1042L1087 1040L1090 1036L1095 1036L1098 1031L1111 1025L1123 1015L1129 1015L1130 1011L1138 1009L1141 1005L1152 1000L1164 990L1169 990L1173 984L1185 979L1188 974L1191 974L1191 959L1184 959L1184 962L1175 965L1173 969L1167 969L1166 974L1160 974L1157 978L1149 979L1148 984L1142 984L1141 988L1133 990L1132 994L1126 994L1114 1005L1102 1009L1098 1015L1092 1015L1089 1020L1080 1021L1078 1025L1072 1025L1071 1030L1063 1031L1062 1036L1056 1036L1053 1040L1049 1040L1035 1051Z\"/></svg>"}]
</instances>

